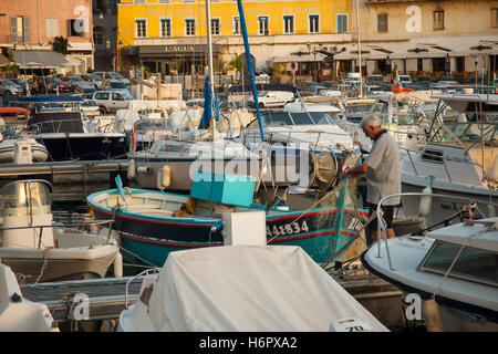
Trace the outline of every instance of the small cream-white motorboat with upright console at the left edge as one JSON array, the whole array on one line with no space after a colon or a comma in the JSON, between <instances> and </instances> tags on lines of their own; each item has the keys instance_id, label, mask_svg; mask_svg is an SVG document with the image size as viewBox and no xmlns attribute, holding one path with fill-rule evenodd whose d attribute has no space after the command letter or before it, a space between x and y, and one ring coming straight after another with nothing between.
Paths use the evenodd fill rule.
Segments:
<instances>
[{"instance_id":1,"label":"small cream-white motorboat with upright console at the left edge","mask_svg":"<svg viewBox=\"0 0 498 354\"><path fill-rule=\"evenodd\" d=\"M104 278L114 262L120 277L122 258L105 222L58 225L52 220L51 185L45 180L19 180L0 190L1 263L25 283ZM108 222L107 222L108 223Z\"/></svg>"}]
</instances>

